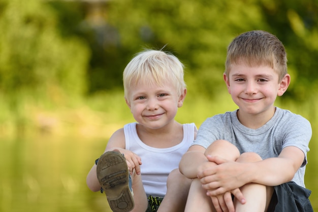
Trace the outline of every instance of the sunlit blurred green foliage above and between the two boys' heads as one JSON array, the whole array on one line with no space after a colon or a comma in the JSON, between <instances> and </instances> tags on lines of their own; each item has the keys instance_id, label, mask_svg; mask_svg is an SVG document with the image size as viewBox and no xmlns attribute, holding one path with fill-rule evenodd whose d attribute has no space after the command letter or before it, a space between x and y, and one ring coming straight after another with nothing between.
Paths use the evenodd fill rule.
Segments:
<instances>
[{"instance_id":1,"label":"sunlit blurred green foliage above and between the two boys' heads","mask_svg":"<svg viewBox=\"0 0 318 212\"><path fill-rule=\"evenodd\" d=\"M258 5L246 7L245 1L125 0L112 2L108 13L122 46L136 52L168 44L165 49L186 65L187 82L195 85L191 89L206 94L223 86L226 49L233 37L266 28Z\"/></svg>"}]
</instances>

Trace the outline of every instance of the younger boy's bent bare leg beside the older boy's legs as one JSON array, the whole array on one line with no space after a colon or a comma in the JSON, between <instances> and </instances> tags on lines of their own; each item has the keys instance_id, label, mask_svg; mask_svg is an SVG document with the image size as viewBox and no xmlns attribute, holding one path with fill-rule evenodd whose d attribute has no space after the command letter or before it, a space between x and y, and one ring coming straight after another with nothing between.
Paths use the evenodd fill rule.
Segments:
<instances>
[{"instance_id":1,"label":"younger boy's bent bare leg beside the older boy's legs","mask_svg":"<svg viewBox=\"0 0 318 212\"><path fill-rule=\"evenodd\" d=\"M183 212L192 180L174 169L168 176L167 193L158 212Z\"/></svg>"}]
</instances>

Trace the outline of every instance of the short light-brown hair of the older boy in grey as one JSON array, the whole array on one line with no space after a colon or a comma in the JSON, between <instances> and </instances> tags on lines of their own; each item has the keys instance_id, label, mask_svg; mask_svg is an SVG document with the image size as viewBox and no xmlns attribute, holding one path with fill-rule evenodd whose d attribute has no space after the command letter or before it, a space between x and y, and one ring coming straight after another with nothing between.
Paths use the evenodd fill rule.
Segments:
<instances>
[{"instance_id":1,"label":"short light-brown hair of the older boy in grey","mask_svg":"<svg viewBox=\"0 0 318 212\"><path fill-rule=\"evenodd\" d=\"M273 34L254 30L240 34L228 47L225 74L231 65L246 63L249 66L266 65L275 70L281 80L287 74L287 54L283 44Z\"/></svg>"}]
</instances>

